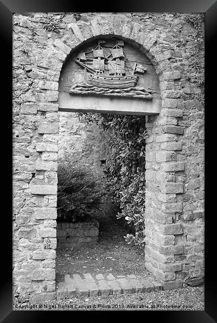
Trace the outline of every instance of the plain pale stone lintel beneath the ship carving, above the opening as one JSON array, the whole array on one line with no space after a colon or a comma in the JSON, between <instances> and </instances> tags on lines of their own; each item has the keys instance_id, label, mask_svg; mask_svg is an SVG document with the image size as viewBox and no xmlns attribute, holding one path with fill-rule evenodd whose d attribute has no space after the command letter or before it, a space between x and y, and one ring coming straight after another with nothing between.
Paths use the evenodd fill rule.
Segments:
<instances>
[{"instance_id":1,"label":"plain pale stone lintel beneath the ship carving, above the opening","mask_svg":"<svg viewBox=\"0 0 217 323\"><path fill-rule=\"evenodd\" d=\"M160 99L59 93L59 111L152 115L160 113Z\"/></svg>"}]
</instances>

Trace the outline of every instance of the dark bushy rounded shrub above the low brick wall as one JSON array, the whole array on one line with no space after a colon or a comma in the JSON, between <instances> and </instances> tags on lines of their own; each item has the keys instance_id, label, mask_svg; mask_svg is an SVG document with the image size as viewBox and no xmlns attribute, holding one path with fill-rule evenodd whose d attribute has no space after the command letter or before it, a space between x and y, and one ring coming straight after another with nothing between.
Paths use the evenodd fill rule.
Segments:
<instances>
[{"instance_id":1,"label":"dark bushy rounded shrub above the low brick wall","mask_svg":"<svg viewBox=\"0 0 217 323\"><path fill-rule=\"evenodd\" d=\"M85 221L99 209L104 193L93 172L78 162L58 165L57 209L59 222Z\"/></svg>"}]
</instances>

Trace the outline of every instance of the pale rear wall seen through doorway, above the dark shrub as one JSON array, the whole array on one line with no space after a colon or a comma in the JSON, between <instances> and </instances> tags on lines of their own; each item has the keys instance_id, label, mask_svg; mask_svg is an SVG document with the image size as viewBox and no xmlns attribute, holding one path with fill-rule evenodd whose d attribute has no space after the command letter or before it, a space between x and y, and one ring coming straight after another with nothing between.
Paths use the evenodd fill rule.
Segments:
<instances>
[{"instance_id":1,"label":"pale rear wall seen through doorway, above the dark shrub","mask_svg":"<svg viewBox=\"0 0 217 323\"><path fill-rule=\"evenodd\" d=\"M109 156L109 133L80 121L73 112L59 112L58 161L79 161L102 177L102 160Z\"/></svg>"}]
</instances>

